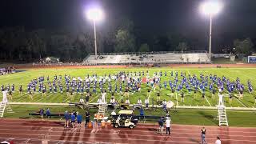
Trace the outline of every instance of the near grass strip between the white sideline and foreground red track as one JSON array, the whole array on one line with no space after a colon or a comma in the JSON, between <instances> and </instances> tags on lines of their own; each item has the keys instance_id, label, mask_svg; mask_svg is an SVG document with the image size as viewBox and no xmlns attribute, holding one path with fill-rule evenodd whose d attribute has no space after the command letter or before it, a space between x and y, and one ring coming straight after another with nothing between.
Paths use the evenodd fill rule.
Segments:
<instances>
[{"instance_id":1,"label":"near grass strip between the white sideline and foreground red track","mask_svg":"<svg viewBox=\"0 0 256 144\"><path fill-rule=\"evenodd\" d=\"M80 114L84 115L85 112L81 109L70 107L70 106L11 106L14 110L14 113L6 113L6 118L30 118L30 119L38 119L39 117L31 117L29 113L33 113L37 111L39 108L46 107L50 108L52 114L62 114L65 110L69 111L79 111ZM90 109L91 119L94 113L98 110ZM116 111L118 112L118 110ZM134 111L134 114L139 114L138 110ZM165 112L162 110L146 110L146 115L156 115L156 116L165 116ZM217 115L217 110L170 110L170 115L172 119L172 123L174 124L186 124L186 125L201 125L201 126L218 126L218 120L214 119ZM256 118L256 113L254 111L240 111L240 110L227 110L228 120L230 126L243 126L243 127L256 127L256 122L254 119ZM53 119L53 118L52 118ZM83 117L84 119L84 117ZM59 120L59 118L55 118L55 120ZM146 121L147 122L147 121ZM154 121L154 123L157 123Z\"/></svg>"}]
</instances>

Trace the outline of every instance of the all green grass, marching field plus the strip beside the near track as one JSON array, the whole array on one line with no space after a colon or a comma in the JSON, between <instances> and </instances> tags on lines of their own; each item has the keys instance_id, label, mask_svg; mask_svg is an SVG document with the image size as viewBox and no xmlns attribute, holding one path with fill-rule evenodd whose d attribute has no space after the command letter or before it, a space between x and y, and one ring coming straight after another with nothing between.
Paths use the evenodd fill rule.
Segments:
<instances>
[{"instance_id":1,"label":"all green grass, marching field plus the strip beside the near track","mask_svg":"<svg viewBox=\"0 0 256 144\"><path fill-rule=\"evenodd\" d=\"M218 99L217 95L215 98L211 98L211 93L209 90L206 89L206 98L208 100L202 102L201 94L197 94L196 98L194 98L194 95L188 94L186 90L183 90L183 92L186 94L185 96L185 102L181 102L181 98L178 95L177 98L170 98L170 86L169 86L169 80L171 79L172 82L174 81L173 77L170 77L170 71L178 71L178 78L180 77L180 72L186 72L186 75L188 74L196 74L199 76L199 74L217 74L218 77L222 77L222 75L225 75L226 78L230 78L231 81L235 81L237 77L240 78L241 82L245 85L246 91L244 92L244 98L240 102L238 99L234 98L232 105L228 103L228 98L225 98L226 100L226 106L233 106L233 107L254 107L254 96L255 92L253 94L249 94L247 92L247 80L250 79L253 86L256 86L256 69L254 68L198 68L198 69L170 69L170 68L129 68L129 69L43 69L43 70L25 70L16 74L10 74L10 75L3 75L0 76L0 85L7 85L7 84L14 84L15 85L15 93L13 95L13 100L10 100L10 102L78 102L78 99L81 96L84 96L84 94L76 94L74 96L74 100L72 101L70 98L66 96L66 93L60 94L50 94L46 93L46 98L42 97L42 94L34 94L34 99L30 100L28 98L28 94L20 95L18 94L18 86L22 85L23 90L26 91L26 85L30 82L32 78L38 78L38 76L46 76L49 75L50 80L52 81L54 78L54 75L62 75L62 79L64 74L70 74L70 76L74 77L81 77L84 78L87 74L98 74L104 75L104 74L116 74L120 71L131 71L131 72L138 72L138 71L150 71L150 76L154 74L154 72L162 71L167 72L167 76L162 76L161 82L164 81L167 82L167 89L163 87L162 84L162 90L161 93L161 99L166 99L167 101L171 100L173 102L178 102L178 105L181 106L215 106ZM64 83L64 82L63 82ZM65 86L64 86L65 87ZM107 86L104 86L105 88ZM216 87L215 87L216 88ZM150 89L150 87L146 86L146 84L142 84L142 91L141 93L135 92L134 94L130 93L130 102L131 103L137 103L138 98L142 99L142 102L144 102L144 99L147 97L146 92ZM37 88L38 90L38 88ZM48 87L47 87L48 90ZM114 82L112 82L112 90L114 90ZM124 86L122 86L122 90L124 90ZM65 91L65 89L63 90ZM118 82L118 91L119 91L119 82ZM154 104L156 103L156 93L159 91L159 88L157 87L155 92L152 92L150 95L150 103L151 98L154 98ZM227 91L224 91L225 94L227 94ZM235 92L234 94L237 94ZM99 90L97 90L97 94L93 94L90 98L90 102L96 102L99 96ZM2 98L2 94L0 94L0 98ZM115 94L115 99L120 100L122 98L121 94ZM107 102L110 102L110 93L107 93ZM28 117L28 113L34 112L39 109L40 106L12 106L14 111L16 113L14 114L5 114L7 118L21 118L21 117ZM46 108L46 107L45 107ZM56 107L56 106L50 106L50 110L52 113L62 113L65 110L77 110L73 107ZM84 114L82 110L79 110ZM94 113L97 110L93 110L92 113ZM135 113L138 113L135 111ZM162 116L164 113L162 110L157 111L146 111L146 114L149 115L159 115ZM214 118L217 115L217 110L178 110L178 113L171 112L172 119L174 123L178 124L194 124L194 125L218 125L218 121L215 121ZM256 122L254 119L256 118L256 114L253 111L239 111L239 110L227 110L227 117L229 120L230 126L256 126Z\"/></svg>"}]
</instances>

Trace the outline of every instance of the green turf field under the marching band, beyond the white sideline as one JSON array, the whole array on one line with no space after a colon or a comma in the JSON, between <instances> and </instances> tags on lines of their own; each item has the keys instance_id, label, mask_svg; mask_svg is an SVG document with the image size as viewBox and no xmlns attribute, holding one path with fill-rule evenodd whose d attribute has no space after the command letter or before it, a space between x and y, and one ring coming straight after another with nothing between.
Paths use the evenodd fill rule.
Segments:
<instances>
[{"instance_id":1,"label":"green turf field under the marching band, beyond the white sideline","mask_svg":"<svg viewBox=\"0 0 256 144\"><path fill-rule=\"evenodd\" d=\"M252 82L253 86L256 84L256 69L254 68L221 68L221 69L216 69L216 68L198 68L198 69L169 69L169 68L150 68L150 69L145 69L145 68L137 68L137 69L49 69L49 70L25 70L23 72L18 72L16 74L9 74L9 75L3 75L0 76L0 85L7 85L7 84L14 84L15 85L15 93L13 95L13 100L10 100L10 102L78 102L78 99L81 97L81 94L75 94L74 95L74 100L71 100L69 97L66 96L66 93L64 92L63 94L57 93L57 94L50 94L46 93L46 97L42 97L42 94L35 93L34 94L34 99L30 100L28 97L28 94L18 94L18 86L22 85L23 91L26 91L26 86L30 82L32 78L38 78L39 76L45 76L45 82L46 82L46 76L49 75L50 81L53 80L54 75L60 75L62 74L62 80L63 80L63 87L65 91L65 82L63 75L64 74L70 74L70 76L74 77L81 77L84 78L87 74L98 74L104 75L104 74L116 74L120 71L150 71L150 76L154 74L154 72L159 72L162 71L162 74L164 72L167 72L167 76L162 76L161 82L162 82L162 90L160 91L159 88L157 87L155 91L152 91L150 94L150 101L152 100L151 98L154 98L154 101L156 101L156 93L160 91L161 94L161 99L166 99L167 101L171 100L174 103L178 102L179 106L215 106L217 103L217 95L215 98L211 98L211 93L208 90L208 87L206 88L206 100L202 101L202 94L198 93L196 95L196 98L194 98L194 93L188 94L186 90L183 88L183 92L186 94L185 95L185 102L181 102L180 95L177 94L177 98L174 96L173 98L170 98L170 86L169 86L169 80L171 79L172 81L174 78L170 77L170 71L178 71L178 77L180 77L180 72L186 72L186 74L196 74L199 77L199 74L217 74L219 77L222 77L222 75L225 75L226 78L230 78L230 81L235 81L237 77L240 78L242 83L244 84L246 91L244 92L244 98L242 101L238 100L238 98L234 97L233 102L230 105L228 103L228 98L226 97L226 106L233 106L233 107L253 107L254 106L254 95L249 94L247 92L248 87L247 87L247 80L250 79ZM167 89L163 87L163 82L167 82ZM118 82L119 84L119 82ZM47 87L47 84L46 84ZM107 84L105 84L105 88L107 90ZM48 87L46 88L48 90ZM122 90L124 90L125 87L122 86ZM130 103L137 103L138 98L142 99L142 102L144 102L144 99L147 97L147 90L151 89L150 86L146 86L146 84L142 84L142 90L141 93L135 92L132 94L130 92ZM38 87L37 87L38 90ZM92 88L90 89L92 90ZM114 81L112 81L112 90L114 90ZM97 90L97 94L93 94L93 96L90 98L90 102L96 102L98 99L98 96L100 94L99 89ZM108 91L108 90L107 90ZM118 86L118 91L119 91L119 86ZM237 93L237 92L236 92ZM234 93L234 94L236 94ZM225 90L225 94L227 94L227 91ZM2 94L1 98L2 98ZM117 100L120 100L122 98L122 94L117 93L115 94L115 98ZM110 102L110 93L107 94L107 102ZM150 102L151 103L151 102Z\"/></svg>"}]
</instances>

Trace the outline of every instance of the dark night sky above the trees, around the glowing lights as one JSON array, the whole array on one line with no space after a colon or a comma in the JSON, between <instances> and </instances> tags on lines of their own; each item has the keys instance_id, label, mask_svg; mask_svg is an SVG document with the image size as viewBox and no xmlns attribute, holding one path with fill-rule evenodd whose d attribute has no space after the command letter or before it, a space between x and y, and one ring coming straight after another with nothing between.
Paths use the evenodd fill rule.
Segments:
<instances>
[{"instance_id":1,"label":"dark night sky above the trees, around the glowing lights","mask_svg":"<svg viewBox=\"0 0 256 144\"><path fill-rule=\"evenodd\" d=\"M134 21L146 37L175 33L204 39L207 46L209 18L200 14L202 0L2 0L0 26L25 26L26 30L90 28L83 11L91 5L106 13L98 29L108 31L122 18ZM256 0L223 0L224 9L213 20L213 45L232 46L234 38L250 37L256 44Z\"/></svg>"}]
</instances>

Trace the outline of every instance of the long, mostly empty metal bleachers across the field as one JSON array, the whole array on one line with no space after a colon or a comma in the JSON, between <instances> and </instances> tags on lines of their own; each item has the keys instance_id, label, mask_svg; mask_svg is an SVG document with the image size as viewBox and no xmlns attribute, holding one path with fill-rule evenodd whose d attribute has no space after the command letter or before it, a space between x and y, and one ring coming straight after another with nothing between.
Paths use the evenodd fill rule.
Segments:
<instances>
[{"instance_id":1,"label":"long, mostly empty metal bleachers across the field","mask_svg":"<svg viewBox=\"0 0 256 144\"><path fill-rule=\"evenodd\" d=\"M169 64L169 63L210 63L206 51L154 52L154 53L106 53L94 58L90 54L82 65L98 64Z\"/></svg>"}]
</instances>

